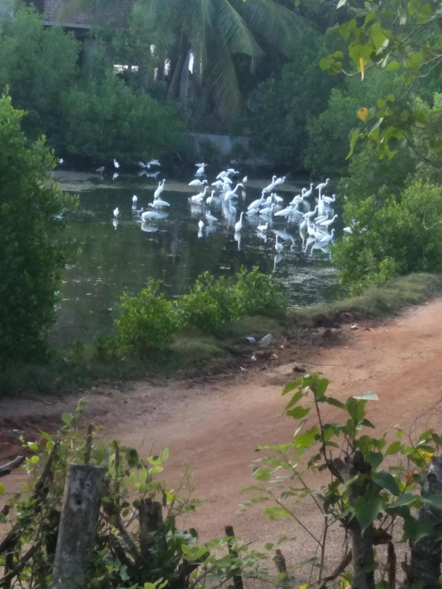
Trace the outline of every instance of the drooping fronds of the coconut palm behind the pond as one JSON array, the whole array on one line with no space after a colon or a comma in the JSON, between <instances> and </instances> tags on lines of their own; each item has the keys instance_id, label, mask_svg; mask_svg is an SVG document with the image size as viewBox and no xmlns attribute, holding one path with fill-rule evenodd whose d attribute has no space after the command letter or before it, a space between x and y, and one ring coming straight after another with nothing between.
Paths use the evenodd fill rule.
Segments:
<instances>
[{"instance_id":1,"label":"drooping fronds of the coconut palm behind the pond","mask_svg":"<svg viewBox=\"0 0 442 589\"><path fill-rule=\"evenodd\" d=\"M94 5L98 11L108 1L64 4ZM132 19L149 27L159 62L168 59L167 98L178 98L184 63L193 54L194 75L227 117L242 105L235 56L246 55L253 72L257 60L265 57L263 44L287 54L293 35L301 31L299 17L284 4L285 0L135 0Z\"/></svg>"}]
</instances>

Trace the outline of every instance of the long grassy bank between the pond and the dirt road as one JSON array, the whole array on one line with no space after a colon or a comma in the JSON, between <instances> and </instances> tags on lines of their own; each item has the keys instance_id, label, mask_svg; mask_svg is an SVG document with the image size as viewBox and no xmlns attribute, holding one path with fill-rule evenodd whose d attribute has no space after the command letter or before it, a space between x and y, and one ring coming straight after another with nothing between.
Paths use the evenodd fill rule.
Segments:
<instances>
[{"instance_id":1,"label":"long grassy bank between the pond and the dirt road","mask_svg":"<svg viewBox=\"0 0 442 589\"><path fill-rule=\"evenodd\" d=\"M266 333L295 339L302 329L340 320L342 313L354 317L382 318L394 316L404 307L417 305L442 293L442 276L410 274L371 287L356 297L331 303L318 303L304 309L289 309L285 319L243 317L225 322L215 335L194 331L175 335L167 349L151 351L145 359L97 358L93 347L72 346L54 352L44 365L9 366L0 375L0 395L20 393L67 393L100 382L151 379L159 382L177 378L228 372L248 362L252 348L245 337L262 337Z\"/></svg>"}]
</instances>

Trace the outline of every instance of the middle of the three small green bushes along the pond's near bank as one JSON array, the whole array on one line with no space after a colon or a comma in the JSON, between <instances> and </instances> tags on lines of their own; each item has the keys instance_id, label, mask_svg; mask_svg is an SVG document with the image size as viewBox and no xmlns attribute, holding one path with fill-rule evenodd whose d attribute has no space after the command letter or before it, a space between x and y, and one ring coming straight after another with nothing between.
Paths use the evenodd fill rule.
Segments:
<instances>
[{"instance_id":1,"label":"middle of the three small green bushes along the pond's near bank","mask_svg":"<svg viewBox=\"0 0 442 589\"><path fill-rule=\"evenodd\" d=\"M183 327L215 332L233 318L232 286L224 277L215 279L209 272L204 272L176 305Z\"/></svg>"}]
</instances>

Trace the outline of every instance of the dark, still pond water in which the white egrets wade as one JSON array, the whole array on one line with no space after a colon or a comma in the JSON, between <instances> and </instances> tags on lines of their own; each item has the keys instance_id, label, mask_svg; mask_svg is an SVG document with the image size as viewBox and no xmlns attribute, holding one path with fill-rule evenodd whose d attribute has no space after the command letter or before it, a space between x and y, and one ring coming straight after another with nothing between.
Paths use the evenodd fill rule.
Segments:
<instances>
[{"instance_id":1,"label":"dark, still pond water in which the white egrets wade","mask_svg":"<svg viewBox=\"0 0 442 589\"><path fill-rule=\"evenodd\" d=\"M120 294L137 294L150 278L161 280L164 293L173 299L185 293L205 270L216 276L233 276L243 264L274 273L296 306L329 299L336 290L335 270L328 254L315 250L311 255L310 249L303 252L297 223L272 217L264 236L256 227L266 219L245 216L238 239L235 217L226 214L220 200L214 199L210 210L218 221L209 226L205 202L204 207L189 204L189 197L202 190L187 185L193 179L192 171L174 181L164 174L169 179L161 198L170 207L161 209L163 219L148 223L141 223L140 214L132 208L132 197L138 197L138 210L149 209L157 187L153 178L121 174L112 181L96 175L91 181L90 174L60 172L57 176L62 188L80 196L79 209L68 218L68 233L80 253L66 265L61 285L54 327L60 345L109 333ZM238 200L232 201L238 210L236 220L269 183L268 178L259 180L253 174L249 178L245 192L239 188ZM288 204L302 186L308 187L305 178L278 187L283 204ZM120 211L118 223L114 223L115 207ZM314 195L304 208L314 208ZM200 219L204 229L199 232ZM284 246L280 256L276 256L274 231L280 232Z\"/></svg>"}]
</instances>

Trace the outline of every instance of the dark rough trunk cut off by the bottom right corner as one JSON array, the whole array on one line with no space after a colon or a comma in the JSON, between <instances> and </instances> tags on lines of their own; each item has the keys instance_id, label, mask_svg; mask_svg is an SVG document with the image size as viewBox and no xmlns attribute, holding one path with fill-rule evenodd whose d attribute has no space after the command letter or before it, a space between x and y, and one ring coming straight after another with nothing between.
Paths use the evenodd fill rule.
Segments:
<instances>
[{"instance_id":1,"label":"dark rough trunk cut off by the bottom right corner","mask_svg":"<svg viewBox=\"0 0 442 589\"><path fill-rule=\"evenodd\" d=\"M434 493L442 493L442 456L433 458L432 464L428 467L427 481L421 491L423 497ZM423 505L419 511L418 523L424 522L435 527L442 524L442 511ZM410 548L411 560L407 568L408 587L418 584L422 589L439 589L441 540L431 534L416 543L410 541Z\"/></svg>"}]
</instances>

